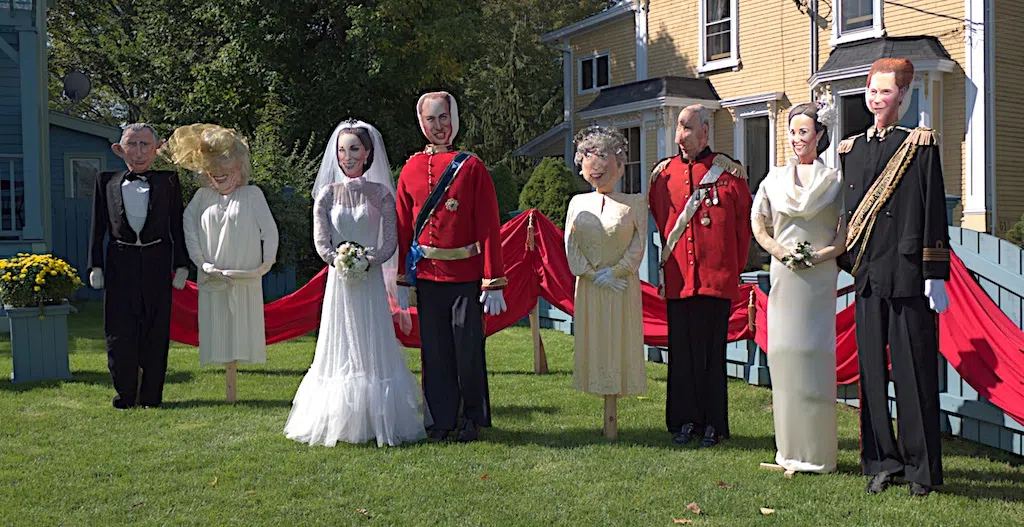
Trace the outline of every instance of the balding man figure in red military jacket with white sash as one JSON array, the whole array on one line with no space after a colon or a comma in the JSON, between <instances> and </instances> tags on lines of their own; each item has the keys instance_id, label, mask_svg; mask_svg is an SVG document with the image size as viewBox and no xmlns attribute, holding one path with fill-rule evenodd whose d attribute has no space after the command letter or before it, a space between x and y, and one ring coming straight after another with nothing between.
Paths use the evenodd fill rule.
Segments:
<instances>
[{"instance_id":1,"label":"balding man figure in red military jacket with white sash","mask_svg":"<svg viewBox=\"0 0 1024 527\"><path fill-rule=\"evenodd\" d=\"M669 314L666 424L677 444L729 437L725 344L751 244L751 190L742 166L708 147L709 114L679 114L682 155L650 176L650 212L662 234L662 295Z\"/></svg>"}]
</instances>

